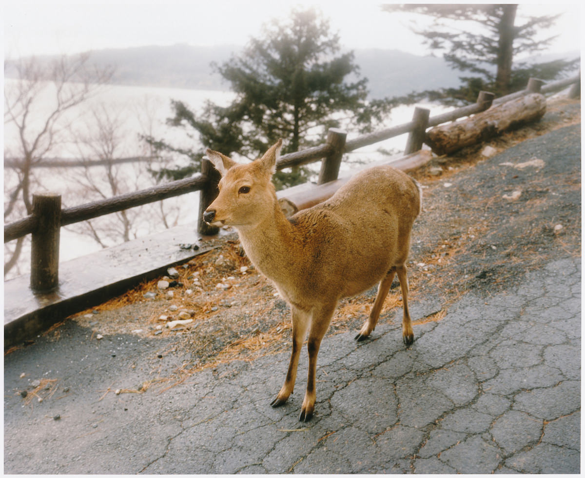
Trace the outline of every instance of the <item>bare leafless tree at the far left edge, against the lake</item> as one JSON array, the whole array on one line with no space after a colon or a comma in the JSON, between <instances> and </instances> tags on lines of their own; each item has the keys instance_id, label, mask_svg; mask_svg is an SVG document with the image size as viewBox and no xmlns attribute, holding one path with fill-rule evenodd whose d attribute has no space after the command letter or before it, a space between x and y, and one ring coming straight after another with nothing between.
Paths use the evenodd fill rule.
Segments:
<instances>
[{"instance_id":1,"label":"bare leafless tree at the far left edge, against the lake","mask_svg":"<svg viewBox=\"0 0 585 478\"><path fill-rule=\"evenodd\" d=\"M50 61L30 57L11 62L17 79L5 84L4 123L5 132L11 130L16 142L6 145L5 141L4 157L15 161L16 177L11 177L12 185L5 183L5 222L15 213L18 217L31 214L33 167L66 140L73 121L67 114L110 80L112 70L92 67L89 58L89 54L81 54ZM5 276L18 262L24 240L5 245Z\"/></svg>"}]
</instances>

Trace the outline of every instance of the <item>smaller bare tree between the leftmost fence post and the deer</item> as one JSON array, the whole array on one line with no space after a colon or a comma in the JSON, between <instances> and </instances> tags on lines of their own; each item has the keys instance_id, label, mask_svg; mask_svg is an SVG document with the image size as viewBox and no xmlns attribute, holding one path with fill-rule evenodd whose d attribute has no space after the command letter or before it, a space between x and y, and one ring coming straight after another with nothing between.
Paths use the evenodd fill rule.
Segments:
<instances>
[{"instance_id":1,"label":"smaller bare tree between the leftmost fence post and the deer","mask_svg":"<svg viewBox=\"0 0 585 478\"><path fill-rule=\"evenodd\" d=\"M145 99L138 105L116 108L100 104L92 109L84 130L75 133L82 167L67 171L70 183L77 185L77 191L71 192L69 197L95 201L156 183L152 171L161 166L163 159L139 139L139 133L150 133L149 129L153 128L156 112L149 106ZM133 130L127 126L129 124L137 124L139 130ZM123 157L139 157L140 160L121 163L119 159ZM176 225L179 216L176 201L167 200L74 224L67 230L89 236L102 247L110 247L121 240L126 242Z\"/></svg>"}]
</instances>

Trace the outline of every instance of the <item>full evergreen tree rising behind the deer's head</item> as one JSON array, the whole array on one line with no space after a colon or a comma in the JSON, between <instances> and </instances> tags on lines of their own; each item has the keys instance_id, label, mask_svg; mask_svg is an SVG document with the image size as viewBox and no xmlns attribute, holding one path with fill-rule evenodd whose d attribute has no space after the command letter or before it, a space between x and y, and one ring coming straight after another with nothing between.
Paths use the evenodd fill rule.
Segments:
<instances>
[{"instance_id":1,"label":"full evergreen tree rising behind the deer's head","mask_svg":"<svg viewBox=\"0 0 585 478\"><path fill-rule=\"evenodd\" d=\"M285 22L274 20L242 54L214 67L230 83L235 101L229 106L207 102L199 115L183 102L172 103L168 123L196 130L204 148L181 150L191 166L166 171L167 176L198 170L207 147L255 159L282 137L283 153L295 152L324 142L329 128L371 130L390 109L388 101L366 101L367 79L359 77L353 53L340 53L339 36L314 9L293 10ZM307 180L307 170L295 168L276 180L277 187L297 184Z\"/></svg>"}]
</instances>

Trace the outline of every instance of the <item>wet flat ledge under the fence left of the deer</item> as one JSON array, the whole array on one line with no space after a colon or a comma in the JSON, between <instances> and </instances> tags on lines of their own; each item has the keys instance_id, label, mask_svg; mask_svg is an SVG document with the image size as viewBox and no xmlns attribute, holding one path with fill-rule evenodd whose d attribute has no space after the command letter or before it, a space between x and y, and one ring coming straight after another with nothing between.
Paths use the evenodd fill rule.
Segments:
<instances>
[{"instance_id":1,"label":"wet flat ledge under the fence left of the deer","mask_svg":"<svg viewBox=\"0 0 585 478\"><path fill-rule=\"evenodd\" d=\"M62 262L59 287L47 294L33 293L30 274L6 281L4 347L22 343L71 314L102 304L144 280L163 275L167 267L218 247L226 236L222 231L218 238L201 239L195 228L195 225L177 226ZM194 243L198 250L180 247Z\"/></svg>"}]
</instances>

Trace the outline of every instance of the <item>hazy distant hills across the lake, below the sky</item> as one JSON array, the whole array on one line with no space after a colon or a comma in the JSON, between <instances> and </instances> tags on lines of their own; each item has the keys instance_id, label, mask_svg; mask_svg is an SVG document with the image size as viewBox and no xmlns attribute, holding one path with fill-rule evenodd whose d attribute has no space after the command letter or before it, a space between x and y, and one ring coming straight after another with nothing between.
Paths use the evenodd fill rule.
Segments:
<instances>
[{"instance_id":1,"label":"hazy distant hills across the lake, below the sky","mask_svg":"<svg viewBox=\"0 0 585 478\"><path fill-rule=\"evenodd\" d=\"M91 61L97 67L113 66L112 82L120 85L228 90L229 85L213 72L212 62L221 64L238 54L239 46L144 46L128 49L96 50ZM445 60L416 56L399 50L354 50L360 74L369 80L372 98L393 97L412 91L435 90L459 85L460 71L450 69ZM579 51L572 57L579 56ZM567 53L567 56L569 54ZM48 61L50 57L39 57ZM15 70L5 62L5 77Z\"/></svg>"}]
</instances>

